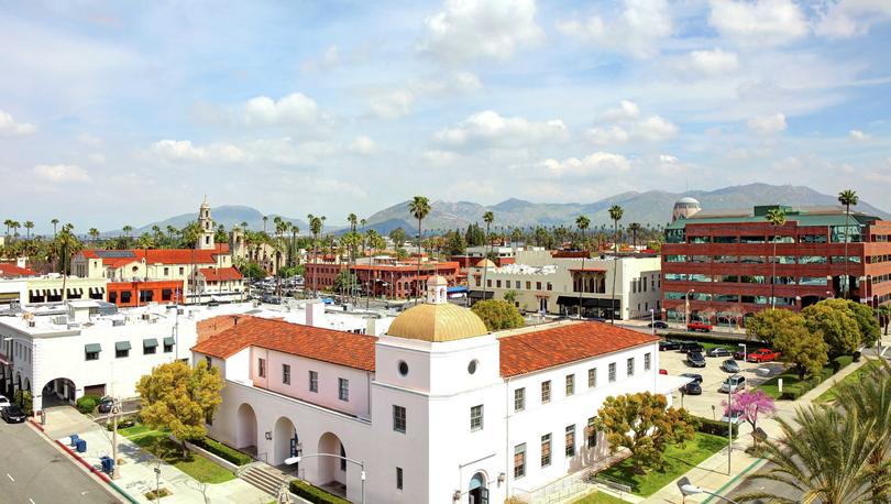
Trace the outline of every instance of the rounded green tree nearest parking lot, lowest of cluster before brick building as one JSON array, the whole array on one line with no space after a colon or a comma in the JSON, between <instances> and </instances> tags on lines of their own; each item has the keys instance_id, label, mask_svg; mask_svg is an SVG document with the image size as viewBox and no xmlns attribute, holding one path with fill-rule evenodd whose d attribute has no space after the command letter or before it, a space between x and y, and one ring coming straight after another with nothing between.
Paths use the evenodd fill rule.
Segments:
<instances>
[{"instance_id":1,"label":"rounded green tree nearest parking lot, lowest of cluster before brick building","mask_svg":"<svg viewBox=\"0 0 891 504\"><path fill-rule=\"evenodd\" d=\"M805 375L820 373L829 360L829 347L823 335L820 331L809 331L804 317L800 315L787 317L777 326L771 339L773 349L780 352L783 360L795 364L801 380L804 380Z\"/></svg>"}]
</instances>

